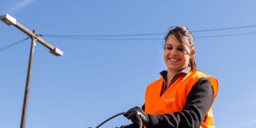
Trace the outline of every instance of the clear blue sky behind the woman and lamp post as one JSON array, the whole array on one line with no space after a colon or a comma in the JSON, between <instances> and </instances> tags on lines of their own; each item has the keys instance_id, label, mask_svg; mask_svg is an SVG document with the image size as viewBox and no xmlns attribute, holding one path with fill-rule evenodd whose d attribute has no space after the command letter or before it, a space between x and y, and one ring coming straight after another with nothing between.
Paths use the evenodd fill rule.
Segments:
<instances>
[{"instance_id":1,"label":"clear blue sky behind the woman and lamp post","mask_svg":"<svg viewBox=\"0 0 256 128\"><path fill-rule=\"evenodd\" d=\"M26 128L96 127L114 114L142 106L146 86L166 70L164 34L102 40L47 34L156 34L170 26L191 31L255 26L255 5L254 0L1 0L0 15L10 14L64 52L56 57L37 42ZM198 69L219 81L213 105L218 128L256 127L256 34L246 34L255 32L256 27L248 27L193 33ZM224 34L244 35L200 38ZM27 37L0 21L0 49ZM120 40L138 38L148 40ZM20 126L30 42L0 51L1 128ZM102 127L128 124L120 116Z\"/></svg>"}]
</instances>

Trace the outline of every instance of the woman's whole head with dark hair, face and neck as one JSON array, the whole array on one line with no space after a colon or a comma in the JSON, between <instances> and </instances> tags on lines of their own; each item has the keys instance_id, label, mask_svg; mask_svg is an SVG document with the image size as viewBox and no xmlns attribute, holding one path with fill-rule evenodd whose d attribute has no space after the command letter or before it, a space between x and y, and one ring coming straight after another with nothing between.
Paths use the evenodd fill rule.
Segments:
<instances>
[{"instance_id":1,"label":"woman's whole head with dark hair, face and neck","mask_svg":"<svg viewBox=\"0 0 256 128\"><path fill-rule=\"evenodd\" d=\"M166 34L164 47L164 60L167 66L167 76L174 78L182 70L190 66L191 70L198 70L195 63L194 36L185 26L172 28ZM170 83L171 79L166 83ZM168 85L166 85L167 87Z\"/></svg>"}]
</instances>

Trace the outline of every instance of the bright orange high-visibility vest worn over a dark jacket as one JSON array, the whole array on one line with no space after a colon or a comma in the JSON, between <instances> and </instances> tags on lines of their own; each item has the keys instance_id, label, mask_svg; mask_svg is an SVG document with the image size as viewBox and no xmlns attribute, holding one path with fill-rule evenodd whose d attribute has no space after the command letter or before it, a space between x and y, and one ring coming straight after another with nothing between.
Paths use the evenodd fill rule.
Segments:
<instances>
[{"instance_id":1,"label":"bright orange high-visibility vest worn over a dark jacket","mask_svg":"<svg viewBox=\"0 0 256 128\"><path fill-rule=\"evenodd\" d=\"M146 114L173 114L175 111L182 111L186 104L187 95L190 94L190 90L198 82L199 78L209 78L210 84L214 89L215 100L218 94L218 80L200 71L190 70L189 74L178 78L161 97L163 78L147 86L145 95ZM200 128L214 127L214 117L210 107Z\"/></svg>"}]
</instances>

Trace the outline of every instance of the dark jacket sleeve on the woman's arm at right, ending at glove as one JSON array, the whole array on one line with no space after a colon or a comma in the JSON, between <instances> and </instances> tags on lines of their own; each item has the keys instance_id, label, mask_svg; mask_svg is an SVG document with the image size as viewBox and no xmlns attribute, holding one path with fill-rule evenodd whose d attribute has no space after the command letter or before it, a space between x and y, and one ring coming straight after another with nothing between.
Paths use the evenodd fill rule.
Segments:
<instances>
[{"instance_id":1,"label":"dark jacket sleeve on the woman's arm at right, ending at glove","mask_svg":"<svg viewBox=\"0 0 256 128\"><path fill-rule=\"evenodd\" d=\"M214 101L214 89L208 78L200 78L190 90L182 111L173 114L148 114L147 128L198 128ZM170 108L171 109L171 108Z\"/></svg>"}]
</instances>

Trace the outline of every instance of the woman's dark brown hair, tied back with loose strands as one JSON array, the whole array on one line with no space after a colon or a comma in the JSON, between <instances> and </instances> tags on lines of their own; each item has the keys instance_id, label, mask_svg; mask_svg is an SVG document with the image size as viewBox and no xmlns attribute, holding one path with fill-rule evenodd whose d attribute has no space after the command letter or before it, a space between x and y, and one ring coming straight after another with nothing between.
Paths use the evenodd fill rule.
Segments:
<instances>
[{"instance_id":1,"label":"woman's dark brown hair, tied back with loose strands","mask_svg":"<svg viewBox=\"0 0 256 128\"><path fill-rule=\"evenodd\" d=\"M191 70L198 70L197 65L195 64L195 58L194 55L191 55L190 52L186 50L186 47L190 48L190 51L195 51L194 46L194 36L190 32L190 30L186 26L174 26L171 27L168 34L166 34L165 40L170 36L174 35L179 42L181 42L183 49L186 51L186 54L190 55L190 62L189 66L191 67ZM166 42L165 42L166 43ZM166 45L166 44L165 44Z\"/></svg>"}]
</instances>

